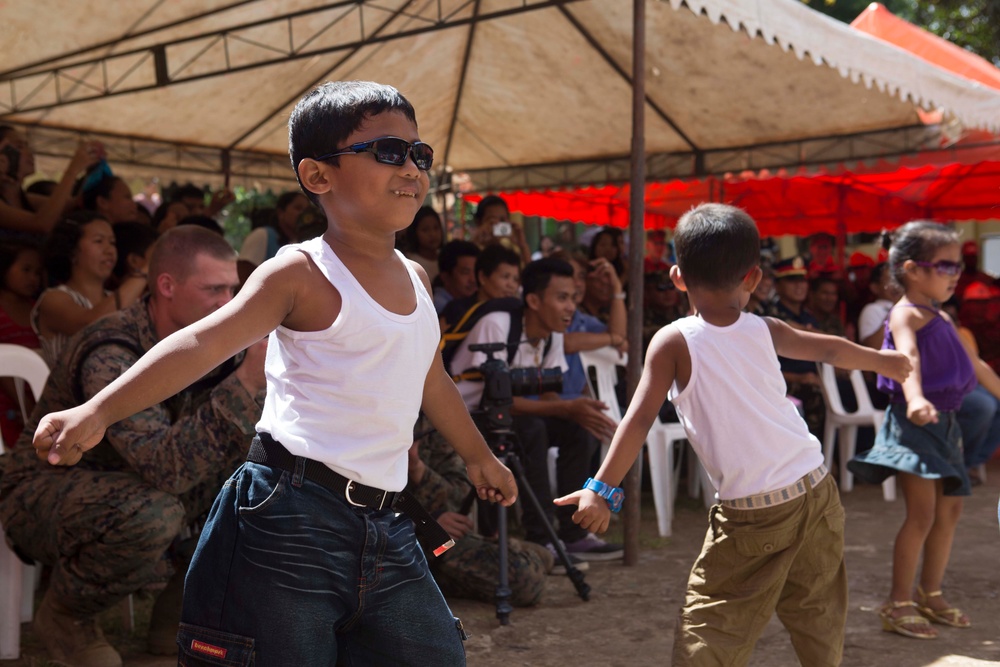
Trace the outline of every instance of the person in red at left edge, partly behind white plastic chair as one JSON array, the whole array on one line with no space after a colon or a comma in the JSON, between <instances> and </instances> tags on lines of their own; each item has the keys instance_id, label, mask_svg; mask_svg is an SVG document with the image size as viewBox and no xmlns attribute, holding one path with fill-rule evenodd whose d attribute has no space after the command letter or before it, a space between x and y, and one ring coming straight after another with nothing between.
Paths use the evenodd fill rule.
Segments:
<instances>
[{"instance_id":1,"label":"person in red at left edge, partly behind white plastic chair","mask_svg":"<svg viewBox=\"0 0 1000 667\"><path fill-rule=\"evenodd\" d=\"M0 243L0 343L38 349L31 309L42 288L42 253L28 242ZM3 369L0 369L0 376ZM0 434L13 446L24 427L13 378L0 377Z\"/></svg>"}]
</instances>

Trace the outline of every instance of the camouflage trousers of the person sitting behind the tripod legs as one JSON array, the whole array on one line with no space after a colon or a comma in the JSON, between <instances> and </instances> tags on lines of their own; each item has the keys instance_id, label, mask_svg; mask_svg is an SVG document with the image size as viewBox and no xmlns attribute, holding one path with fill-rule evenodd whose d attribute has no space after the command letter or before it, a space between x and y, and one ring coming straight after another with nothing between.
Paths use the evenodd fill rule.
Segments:
<instances>
[{"instance_id":1,"label":"camouflage trousers of the person sitting behind the tripod legs","mask_svg":"<svg viewBox=\"0 0 1000 667\"><path fill-rule=\"evenodd\" d=\"M495 541L470 534L439 558L431 559L431 572L447 597L482 602L496 599L500 571L500 547ZM537 604L545 590L545 578L552 569L552 554L545 547L511 538L507 576L510 603L524 607Z\"/></svg>"}]
</instances>

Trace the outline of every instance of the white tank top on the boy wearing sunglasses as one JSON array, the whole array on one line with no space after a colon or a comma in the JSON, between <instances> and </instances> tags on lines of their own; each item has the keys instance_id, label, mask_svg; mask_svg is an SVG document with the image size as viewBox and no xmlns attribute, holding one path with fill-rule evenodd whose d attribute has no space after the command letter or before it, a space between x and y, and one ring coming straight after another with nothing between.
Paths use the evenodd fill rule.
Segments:
<instances>
[{"instance_id":1,"label":"white tank top on the boy wearing sunglasses","mask_svg":"<svg viewBox=\"0 0 1000 667\"><path fill-rule=\"evenodd\" d=\"M437 355L434 304L403 262L417 307L397 315L380 306L322 237L283 247L304 252L340 292L342 305L323 331L278 327L267 343L267 398L257 430L296 456L388 491L406 485L424 380Z\"/></svg>"}]
</instances>

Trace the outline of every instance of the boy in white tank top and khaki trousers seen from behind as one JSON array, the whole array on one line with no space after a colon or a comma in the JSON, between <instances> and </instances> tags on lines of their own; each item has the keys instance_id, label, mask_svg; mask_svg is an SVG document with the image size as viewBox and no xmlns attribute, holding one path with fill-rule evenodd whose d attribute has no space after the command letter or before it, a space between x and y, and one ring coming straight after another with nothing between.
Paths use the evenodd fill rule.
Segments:
<instances>
[{"instance_id":1,"label":"boy in white tank top and khaki trousers seen from behind","mask_svg":"<svg viewBox=\"0 0 1000 667\"><path fill-rule=\"evenodd\" d=\"M669 396L719 497L688 580L672 664L746 664L777 611L803 665L839 665L847 617L844 510L819 442L785 398L777 354L900 381L909 362L898 352L741 312L761 269L757 227L740 209L698 206L681 218L674 244L671 278L698 314L653 337L596 478L556 503L578 504L574 521L606 530L624 495L616 486Z\"/></svg>"}]
</instances>

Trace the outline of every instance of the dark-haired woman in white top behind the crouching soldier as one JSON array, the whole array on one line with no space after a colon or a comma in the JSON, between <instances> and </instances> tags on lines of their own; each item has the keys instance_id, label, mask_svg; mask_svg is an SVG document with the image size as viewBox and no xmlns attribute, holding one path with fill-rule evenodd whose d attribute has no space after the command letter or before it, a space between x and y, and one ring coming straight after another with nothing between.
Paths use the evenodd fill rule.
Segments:
<instances>
[{"instance_id":1,"label":"dark-haired woman in white top behind the crouching soldier","mask_svg":"<svg viewBox=\"0 0 1000 667\"><path fill-rule=\"evenodd\" d=\"M115 233L111 223L91 211L76 211L56 225L45 249L45 261L55 287L38 297L31 325L51 368L70 336L142 296L146 265L125 276L117 289L106 290L104 284L118 261Z\"/></svg>"}]
</instances>

